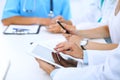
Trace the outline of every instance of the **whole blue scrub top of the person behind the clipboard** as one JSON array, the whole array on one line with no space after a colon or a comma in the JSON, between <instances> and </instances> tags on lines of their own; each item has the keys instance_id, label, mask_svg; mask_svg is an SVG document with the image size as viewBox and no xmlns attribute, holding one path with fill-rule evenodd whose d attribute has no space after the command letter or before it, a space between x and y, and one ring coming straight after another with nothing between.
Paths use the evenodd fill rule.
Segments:
<instances>
[{"instance_id":1,"label":"whole blue scrub top of the person behind the clipboard","mask_svg":"<svg viewBox=\"0 0 120 80\"><path fill-rule=\"evenodd\" d=\"M53 0L54 17L61 15L71 18L69 0ZM13 16L48 18L50 0L7 0L2 18Z\"/></svg>"}]
</instances>

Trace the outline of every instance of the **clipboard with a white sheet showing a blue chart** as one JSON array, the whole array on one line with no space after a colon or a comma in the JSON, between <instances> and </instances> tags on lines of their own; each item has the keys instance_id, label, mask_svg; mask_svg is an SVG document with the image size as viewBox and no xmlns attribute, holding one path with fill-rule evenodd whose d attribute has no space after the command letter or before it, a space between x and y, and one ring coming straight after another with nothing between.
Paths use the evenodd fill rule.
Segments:
<instances>
[{"instance_id":1,"label":"clipboard with a white sheet showing a blue chart","mask_svg":"<svg viewBox=\"0 0 120 80\"><path fill-rule=\"evenodd\" d=\"M8 35L38 34L41 25L10 25L4 30Z\"/></svg>"}]
</instances>

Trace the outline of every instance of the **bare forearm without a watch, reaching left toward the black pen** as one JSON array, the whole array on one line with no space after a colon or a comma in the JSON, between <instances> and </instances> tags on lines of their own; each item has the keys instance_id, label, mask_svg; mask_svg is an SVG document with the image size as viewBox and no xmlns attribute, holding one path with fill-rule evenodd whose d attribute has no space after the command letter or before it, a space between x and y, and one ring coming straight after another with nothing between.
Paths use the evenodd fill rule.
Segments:
<instances>
[{"instance_id":1,"label":"bare forearm without a watch, reaching left toward the black pen","mask_svg":"<svg viewBox=\"0 0 120 80\"><path fill-rule=\"evenodd\" d=\"M107 38L110 36L108 26L101 26L98 28L88 29L88 30L79 30L77 31L77 34L85 38L93 38L93 39Z\"/></svg>"}]
</instances>

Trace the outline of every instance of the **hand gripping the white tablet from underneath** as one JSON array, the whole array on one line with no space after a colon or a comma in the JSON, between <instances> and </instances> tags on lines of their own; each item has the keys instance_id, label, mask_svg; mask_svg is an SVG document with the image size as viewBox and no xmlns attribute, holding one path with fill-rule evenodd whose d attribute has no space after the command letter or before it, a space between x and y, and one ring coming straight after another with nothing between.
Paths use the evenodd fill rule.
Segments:
<instances>
[{"instance_id":1,"label":"hand gripping the white tablet from underneath","mask_svg":"<svg viewBox=\"0 0 120 80\"><path fill-rule=\"evenodd\" d=\"M42 68L45 72L47 72L47 74L50 75L50 73L55 69L55 67L52 66L51 64L49 64L43 60L40 60L38 58L35 58L35 59L39 63L40 68Z\"/></svg>"}]
</instances>

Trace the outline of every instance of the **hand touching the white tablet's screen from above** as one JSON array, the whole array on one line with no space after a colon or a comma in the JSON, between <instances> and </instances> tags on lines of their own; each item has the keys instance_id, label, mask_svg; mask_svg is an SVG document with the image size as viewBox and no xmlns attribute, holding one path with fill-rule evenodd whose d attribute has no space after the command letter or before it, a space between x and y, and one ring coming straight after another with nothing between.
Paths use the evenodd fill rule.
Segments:
<instances>
[{"instance_id":1,"label":"hand touching the white tablet's screen from above","mask_svg":"<svg viewBox=\"0 0 120 80\"><path fill-rule=\"evenodd\" d=\"M72 57L83 59L83 50L76 43L71 43L68 41L61 42L58 45L56 45L54 49L57 52L62 52Z\"/></svg>"}]
</instances>

